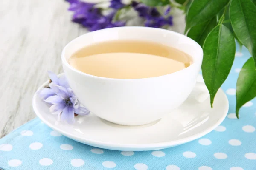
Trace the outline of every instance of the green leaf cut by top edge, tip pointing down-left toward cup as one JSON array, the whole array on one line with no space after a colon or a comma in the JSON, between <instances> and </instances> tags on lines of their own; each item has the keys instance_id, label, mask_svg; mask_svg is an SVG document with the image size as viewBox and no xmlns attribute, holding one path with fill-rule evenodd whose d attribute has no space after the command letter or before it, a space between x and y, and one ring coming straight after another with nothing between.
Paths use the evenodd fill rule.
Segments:
<instances>
[{"instance_id":1,"label":"green leaf cut by top edge, tip pointing down-left toward cup","mask_svg":"<svg viewBox=\"0 0 256 170\"><path fill-rule=\"evenodd\" d=\"M185 33L192 26L213 18L230 0L194 0L189 8Z\"/></svg>"}]
</instances>

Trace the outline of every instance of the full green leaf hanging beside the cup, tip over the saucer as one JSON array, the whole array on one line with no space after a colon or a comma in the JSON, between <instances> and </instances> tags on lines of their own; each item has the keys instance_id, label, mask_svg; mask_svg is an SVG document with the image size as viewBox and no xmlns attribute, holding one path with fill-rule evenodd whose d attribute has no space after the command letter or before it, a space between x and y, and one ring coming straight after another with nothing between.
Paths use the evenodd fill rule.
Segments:
<instances>
[{"instance_id":1,"label":"full green leaf hanging beside the cup, tip over the saucer","mask_svg":"<svg viewBox=\"0 0 256 170\"><path fill-rule=\"evenodd\" d=\"M218 25L210 32L203 46L202 74L209 90L211 106L214 97L226 80L236 53L236 43L231 31Z\"/></svg>"}]
</instances>

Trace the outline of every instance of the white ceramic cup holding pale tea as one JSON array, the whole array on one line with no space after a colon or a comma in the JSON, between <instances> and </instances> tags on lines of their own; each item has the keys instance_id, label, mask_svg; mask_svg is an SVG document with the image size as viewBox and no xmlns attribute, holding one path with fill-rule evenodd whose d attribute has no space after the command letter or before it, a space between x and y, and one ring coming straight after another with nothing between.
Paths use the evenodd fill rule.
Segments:
<instances>
[{"instance_id":1,"label":"white ceramic cup holding pale tea","mask_svg":"<svg viewBox=\"0 0 256 170\"><path fill-rule=\"evenodd\" d=\"M192 57L192 65L172 74L143 79L97 77L68 63L79 49L110 40L145 40L169 45ZM117 27L84 34L62 51L65 76L79 101L102 119L120 125L144 125L179 107L195 86L203 50L197 42L173 31L148 27Z\"/></svg>"}]
</instances>

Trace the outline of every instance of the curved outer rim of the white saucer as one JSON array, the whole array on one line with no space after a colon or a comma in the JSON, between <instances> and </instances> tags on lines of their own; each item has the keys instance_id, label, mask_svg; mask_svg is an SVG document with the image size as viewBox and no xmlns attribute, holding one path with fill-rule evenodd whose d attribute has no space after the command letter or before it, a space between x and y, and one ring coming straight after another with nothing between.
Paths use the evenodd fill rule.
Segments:
<instances>
[{"instance_id":1,"label":"curved outer rim of the white saucer","mask_svg":"<svg viewBox=\"0 0 256 170\"><path fill-rule=\"evenodd\" d=\"M62 76L64 73L59 74L58 76ZM73 139L77 142L83 143L83 144L88 144L93 147L99 147L103 149L109 149L109 150L120 150L120 151L148 151L148 150L161 150L169 147L175 147L180 144L185 144L188 142L191 142L195 139L201 138L202 136L210 133L212 130L214 130L218 125L221 124L221 122L224 121L225 117L227 116L228 110L229 110L229 102L227 99L226 94L222 89L219 89L216 96L221 96L221 98L224 98L225 103L225 111L223 112L223 115L218 119L218 121L215 123L214 126L209 127L208 129L205 129L201 131L200 133L197 133L193 136L186 137L184 139L179 139L171 142L159 142L159 143L152 143L152 144L113 144L111 142L103 142L103 141L98 141L98 140L91 140L91 139L85 139L85 138L79 138L77 136L74 136L72 134L69 134L65 132L64 130L61 130L54 125L49 124L49 122L44 119L44 117L40 114L40 111L36 107L36 98L38 97L38 91L41 88L44 88L47 84L49 84L49 80L47 82L44 82L43 85L41 85L38 90L35 92L33 99L32 99L32 107L35 111L35 114L38 116L39 119L41 119L42 122L44 122L47 126L49 126L51 129L61 133L62 135Z\"/></svg>"}]
</instances>

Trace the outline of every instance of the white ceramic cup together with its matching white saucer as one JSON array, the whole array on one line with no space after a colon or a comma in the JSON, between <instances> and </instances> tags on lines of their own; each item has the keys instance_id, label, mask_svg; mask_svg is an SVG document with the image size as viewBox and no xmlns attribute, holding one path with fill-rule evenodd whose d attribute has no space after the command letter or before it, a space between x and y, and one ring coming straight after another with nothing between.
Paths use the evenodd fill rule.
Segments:
<instances>
[{"instance_id":1,"label":"white ceramic cup together with its matching white saucer","mask_svg":"<svg viewBox=\"0 0 256 170\"><path fill-rule=\"evenodd\" d=\"M113 79L83 73L68 63L77 50L108 40L143 40L177 48L192 64L180 71L143 79ZM203 50L182 34L147 27L116 27L84 34L62 51L64 76L87 116L73 124L59 122L38 93L36 115L50 128L77 142L110 150L145 151L174 147L198 139L215 129L227 115L227 96L219 89L211 108L209 92L198 79ZM38 88L49 84L45 82Z\"/></svg>"}]
</instances>

